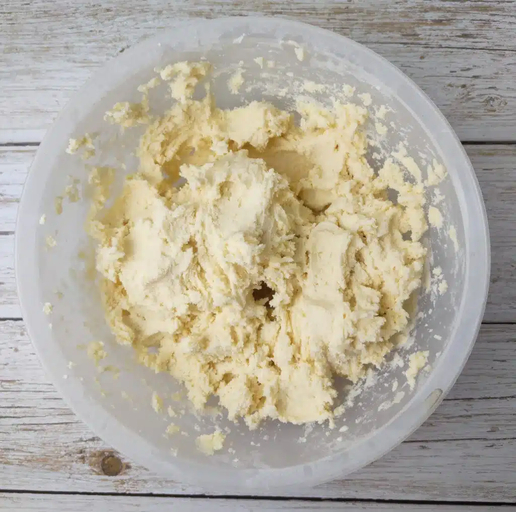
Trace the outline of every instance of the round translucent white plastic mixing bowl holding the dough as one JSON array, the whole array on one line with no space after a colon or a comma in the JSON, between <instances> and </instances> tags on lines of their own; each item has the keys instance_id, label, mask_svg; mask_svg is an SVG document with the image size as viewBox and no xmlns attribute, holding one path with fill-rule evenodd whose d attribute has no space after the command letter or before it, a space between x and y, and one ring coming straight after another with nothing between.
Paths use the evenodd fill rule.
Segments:
<instances>
[{"instance_id":1,"label":"round translucent white plastic mixing bowl holding the dough","mask_svg":"<svg viewBox=\"0 0 516 512\"><path fill-rule=\"evenodd\" d=\"M297 60L293 47L279 44L280 40L296 41L304 47L306 58ZM89 243L83 229L88 201L65 201L65 211L58 216L54 199L63 193L67 175L86 181L84 164L65 153L69 138L94 131L102 131L105 138L117 132L117 127L106 131L104 111L117 101L138 101L136 87L154 75L153 68L207 57L216 70L227 71L243 60L246 83L256 83L258 88L243 97L230 95L224 85L228 75L222 73L215 94L219 106L228 107L264 94L270 79L261 78L263 71L253 65L257 56L275 60L276 67L265 71L287 85L290 70L302 79L346 83L356 86L357 92L369 92L374 103L393 109L388 121L395 123L395 129L389 146L395 148L402 135L416 160L423 154L445 165L448 178L440 185L445 229L430 229L428 244L429 260L432 266L442 267L449 289L435 304L428 295L419 300L423 315L414 329L413 346L402 355L429 350L432 370L420 376L414 392L409 392L402 375L406 368L385 369L376 385L365 389L337 423L348 430L335 428L329 435L319 425L305 436L301 426L270 422L251 433L243 425L218 421L222 427L230 426L231 434L224 450L206 457L196 450L195 438L213 431L213 418L196 418L188 412L186 400L173 404L175 409L187 410L176 423L189 436L164 436L170 420L152 410L152 391L167 397L166 406L172 405L168 397L180 387L169 375L155 375L136 364L132 349L117 345L106 326L98 291L77 259L78 250ZM280 107L289 106L288 98L267 98ZM163 109L165 102L154 107ZM126 153L119 144L110 155L113 161L124 158L128 170L134 171L134 158ZM43 213L47 220L40 225ZM458 252L447 234L451 225L457 230ZM52 249L45 246L48 234L57 240ZM30 169L18 214L16 268L23 316L41 361L70 407L97 435L134 461L176 481L219 493L255 493L348 474L391 450L428 417L473 347L486 302L490 253L485 208L471 164L445 118L409 78L364 46L326 30L286 20L227 18L182 22L111 60L75 94L47 132ZM63 293L61 299L56 291ZM53 305L50 316L42 311L44 302ZM85 350L77 347L93 340L105 341L107 361L121 368L120 378L109 372L98 376ZM75 365L70 367L69 361ZM397 392L402 390L405 396L379 410L380 404L394 399L390 385L394 379L400 384ZM303 438L306 441L299 442ZM178 450L177 456L171 447ZM229 453L228 447L235 453Z\"/></svg>"}]
</instances>

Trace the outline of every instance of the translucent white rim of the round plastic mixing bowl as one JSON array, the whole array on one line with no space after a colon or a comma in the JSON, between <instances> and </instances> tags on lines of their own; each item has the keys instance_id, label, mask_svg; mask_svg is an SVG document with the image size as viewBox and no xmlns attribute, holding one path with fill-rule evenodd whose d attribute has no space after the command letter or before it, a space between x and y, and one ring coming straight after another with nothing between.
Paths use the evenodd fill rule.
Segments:
<instances>
[{"instance_id":1,"label":"translucent white rim of the round plastic mixing bowl","mask_svg":"<svg viewBox=\"0 0 516 512\"><path fill-rule=\"evenodd\" d=\"M249 31L256 30L257 27L270 29L275 26L278 28L281 26L282 29L292 28L297 33L302 31L303 35L307 35L307 40L321 37L332 45L347 45L353 51L361 53L376 65L381 66L382 70L388 75L383 78L383 81L403 84L406 86L404 92L408 90L411 98L417 100L417 108L415 109L417 116L424 119L425 124L435 126L435 129L432 129L434 146L439 148L445 161L447 156L449 161L455 163L453 166L454 186L461 202L466 241L464 293L453 333L438 364L433 368L426 381L418 388L407 406L388 424L376 430L374 435L366 438L364 440L365 445L364 442L360 441L351 446L345 454L335 454L314 462L282 469L237 470L235 468L234 470L206 471L206 467L199 463L181 459L172 463L169 460L160 459L159 454L150 443L142 440L110 414L108 410L89 397L82 389L78 379L63 381L61 379L62 373L57 373L58 367L62 367L60 365L63 364L62 357L56 355L55 351L53 353L51 335L37 332L33 320L36 309L38 307L41 309L41 302L38 293L35 293L37 287L34 284L38 282L36 251L36 225L38 223L36 216L38 212L34 213L32 206L37 204L37 198L46 180L44 174L38 173L38 167L40 167L46 155L53 151L53 139L57 137L60 130L62 131L62 126L70 123L71 118L76 115L74 114L76 101L84 98L86 91L97 87L99 82L106 82L106 72L112 70L117 62L121 65L130 63L141 52L145 52L146 49L156 44L159 45L172 30L175 35L178 35L178 33L191 34L193 29L203 27L206 27L206 29L241 30L242 34L249 34ZM460 185L459 188L456 186L457 184ZM465 195L467 195L467 201ZM20 225L29 228L21 232ZM56 121L47 130L30 166L18 209L15 230L15 274L18 297L27 332L47 375L78 418L84 421L97 435L115 447L120 453L142 466L181 483L200 486L203 489L216 489L219 493L221 489L239 492L246 490L267 491L268 489L292 488L301 484L305 486L316 485L336 477L345 476L392 450L428 418L462 371L480 328L489 287L489 230L480 187L460 140L437 106L410 78L388 60L349 38L313 25L283 18L253 16L213 20L182 20L170 24L168 28L163 29L155 36L135 44L123 54L110 59L72 95ZM461 333L460 339L457 337L458 331ZM449 349L452 345L454 350Z\"/></svg>"}]
</instances>

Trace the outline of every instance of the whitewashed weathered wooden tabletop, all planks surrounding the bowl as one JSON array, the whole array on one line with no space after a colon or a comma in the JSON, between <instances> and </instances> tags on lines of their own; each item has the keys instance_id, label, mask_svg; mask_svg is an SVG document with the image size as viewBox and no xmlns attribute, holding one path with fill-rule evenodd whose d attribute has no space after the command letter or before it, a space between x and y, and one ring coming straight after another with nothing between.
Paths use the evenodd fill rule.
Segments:
<instances>
[{"instance_id":1,"label":"whitewashed weathered wooden tabletop, all planks surrounding the bowl","mask_svg":"<svg viewBox=\"0 0 516 512\"><path fill-rule=\"evenodd\" d=\"M491 288L455 387L391 453L294 495L208 497L112 451L62 402L20 316L13 232L38 143L96 68L172 20L255 12L366 44L442 109L486 201ZM0 47L0 510L516 510L515 1L4 0Z\"/></svg>"}]
</instances>

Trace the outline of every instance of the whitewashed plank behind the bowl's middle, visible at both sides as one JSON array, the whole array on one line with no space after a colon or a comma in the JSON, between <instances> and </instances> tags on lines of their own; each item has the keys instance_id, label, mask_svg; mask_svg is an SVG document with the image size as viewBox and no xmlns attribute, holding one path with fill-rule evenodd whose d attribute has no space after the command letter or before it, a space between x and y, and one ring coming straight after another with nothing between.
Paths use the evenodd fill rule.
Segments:
<instances>
[{"instance_id":1,"label":"whitewashed plank behind the bowl's middle, visible at both sides","mask_svg":"<svg viewBox=\"0 0 516 512\"><path fill-rule=\"evenodd\" d=\"M16 211L35 147L0 148L0 233L15 227ZM467 145L486 202L491 235L487 322L516 321L516 145ZM13 237L0 235L0 318L20 317L13 274Z\"/></svg>"}]
</instances>

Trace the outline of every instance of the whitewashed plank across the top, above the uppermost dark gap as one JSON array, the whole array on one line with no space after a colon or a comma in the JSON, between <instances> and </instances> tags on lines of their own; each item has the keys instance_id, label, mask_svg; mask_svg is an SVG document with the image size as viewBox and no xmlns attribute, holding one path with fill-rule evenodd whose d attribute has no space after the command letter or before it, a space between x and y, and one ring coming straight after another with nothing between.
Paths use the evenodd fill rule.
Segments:
<instances>
[{"instance_id":1,"label":"whitewashed plank across the top, above the uppermost dark gap","mask_svg":"<svg viewBox=\"0 0 516 512\"><path fill-rule=\"evenodd\" d=\"M229 13L286 16L365 43L414 79L462 140L516 139L513 2L15 0L0 9L0 143L40 141L94 70L156 30Z\"/></svg>"}]
</instances>

